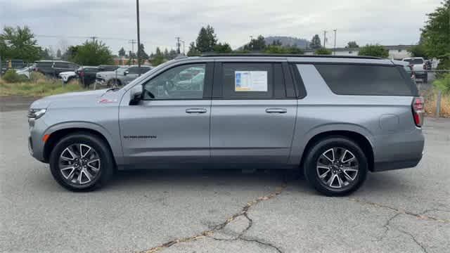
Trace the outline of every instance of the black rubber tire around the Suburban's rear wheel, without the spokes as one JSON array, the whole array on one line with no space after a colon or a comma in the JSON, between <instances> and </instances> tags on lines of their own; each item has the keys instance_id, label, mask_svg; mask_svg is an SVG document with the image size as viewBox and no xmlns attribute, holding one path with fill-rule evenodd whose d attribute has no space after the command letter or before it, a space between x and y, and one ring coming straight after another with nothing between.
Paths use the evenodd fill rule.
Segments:
<instances>
[{"instance_id":1,"label":"black rubber tire around the Suburban's rear wheel, without the spokes","mask_svg":"<svg viewBox=\"0 0 450 253\"><path fill-rule=\"evenodd\" d=\"M354 180L342 189L330 188L329 186L326 186L321 179L319 179L319 169L317 169L319 157L323 157L322 155L326 152L326 150L330 150L332 148L348 150L352 153L352 155L354 155L354 157L356 157L356 161L359 164L359 171ZM333 160L335 160L334 153ZM304 160L303 171L308 183L319 191L319 193L332 197L345 196L357 190L361 187L362 183L364 183L368 171L368 162L366 154L357 143L343 136L330 136L317 141L311 148L309 148ZM331 173L332 172L330 171L330 175L332 175ZM339 183L339 185L341 185L341 183Z\"/></svg>"}]
</instances>

